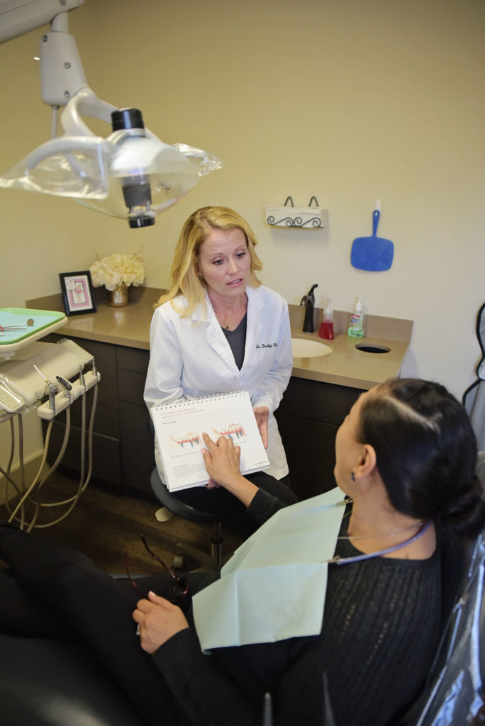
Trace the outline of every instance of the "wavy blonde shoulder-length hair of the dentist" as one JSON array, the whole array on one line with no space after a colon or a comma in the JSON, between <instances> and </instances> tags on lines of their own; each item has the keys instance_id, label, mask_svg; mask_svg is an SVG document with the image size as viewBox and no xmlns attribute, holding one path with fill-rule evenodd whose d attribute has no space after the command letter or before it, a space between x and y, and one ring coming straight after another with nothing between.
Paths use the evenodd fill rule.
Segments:
<instances>
[{"instance_id":1,"label":"wavy blonde shoulder-length hair of the dentist","mask_svg":"<svg viewBox=\"0 0 485 726\"><path fill-rule=\"evenodd\" d=\"M206 286L200 273L199 253L200 246L212 229L240 229L243 232L250 257L249 284L251 287L261 285L256 277L256 271L262 267L255 250L258 242L248 222L229 207L203 207L193 212L182 227L171 266L172 287L161 296L157 306L170 300L180 317L185 317L197 305L205 305ZM177 295L184 295L187 306L176 305L174 298Z\"/></svg>"}]
</instances>

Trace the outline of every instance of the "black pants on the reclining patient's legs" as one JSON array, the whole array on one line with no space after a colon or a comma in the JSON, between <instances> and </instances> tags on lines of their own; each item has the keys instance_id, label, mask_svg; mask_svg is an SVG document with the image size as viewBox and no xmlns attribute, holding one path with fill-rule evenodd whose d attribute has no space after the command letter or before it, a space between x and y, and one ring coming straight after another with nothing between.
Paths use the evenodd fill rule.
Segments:
<instances>
[{"instance_id":1,"label":"black pants on the reclining patient's legs","mask_svg":"<svg viewBox=\"0 0 485 726\"><path fill-rule=\"evenodd\" d=\"M147 724L176 725L174 698L136 635L131 613L140 596L128 579L114 579L81 552L10 526L0 526L0 558L13 575L0 578L1 632L85 643ZM192 592L204 576L189 574ZM168 576L136 582L142 592L171 598Z\"/></svg>"}]
</instances>

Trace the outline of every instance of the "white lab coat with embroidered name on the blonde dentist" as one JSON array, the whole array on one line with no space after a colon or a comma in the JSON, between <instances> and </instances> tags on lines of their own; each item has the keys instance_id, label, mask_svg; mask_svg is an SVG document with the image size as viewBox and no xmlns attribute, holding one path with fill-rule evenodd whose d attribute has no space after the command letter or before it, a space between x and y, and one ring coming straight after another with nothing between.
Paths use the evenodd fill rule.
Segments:
<instances>
[{"instance_id":1,"label":"white lab coat with embroidered name on the blonde dentist","mask_svg":"<svg viewBox=\"0 0 485 726\"><path fill-rule=\"evenodd\" d=\"M150 409L182 396L248 391L254 408L269 408L266 454L270 467L266 472L280 479L288 474L288 464L273 412L293 367L288 303L269 287L247 287L246 293L248 325L241 370L207 295L206 312L198 306L191 316L182 318L170 301L155 310L144 401ZM182 306L185 300L179 296L175 302ZM163 478L156 446L155 459Z\"/></svg>"}]
</instances>

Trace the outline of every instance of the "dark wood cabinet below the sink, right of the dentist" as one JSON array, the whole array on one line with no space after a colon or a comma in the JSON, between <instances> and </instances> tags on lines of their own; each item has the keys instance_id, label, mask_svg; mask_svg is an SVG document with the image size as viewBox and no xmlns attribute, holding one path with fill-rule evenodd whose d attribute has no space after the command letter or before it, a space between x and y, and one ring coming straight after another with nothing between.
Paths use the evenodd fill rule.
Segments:
<instances>
[{"instance_id":1,"label":"dark wood cabinet below the sink, right of the dentist","mask_svg":"<svg viewBox=\"0 0 485 726\"><path fill-rule=\"evenodd\" d=\"M360 388L290 378L275 415L299 499L335 486L335 435L361 393Z\"/></svg>"}]
</instances>

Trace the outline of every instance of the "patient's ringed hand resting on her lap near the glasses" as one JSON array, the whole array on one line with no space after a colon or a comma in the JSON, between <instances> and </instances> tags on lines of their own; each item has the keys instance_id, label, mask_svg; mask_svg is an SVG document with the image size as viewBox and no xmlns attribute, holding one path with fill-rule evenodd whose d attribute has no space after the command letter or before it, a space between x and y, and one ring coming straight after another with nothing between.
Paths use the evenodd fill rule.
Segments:
<instances>
[{"instance_id":1,"label":"patient's ringed hand resting on her lap near the glasses","mask_svg":"<svg viewBox=\"0 0 485 726\"><path fill-rule=\"evenodd\" d=\"M165 597L148 593L148 600L139 600L133 619L139 624L140 643L146 653L155 653L176 633L189 627L182 610Z\"/></svg>"}]
</instances>

